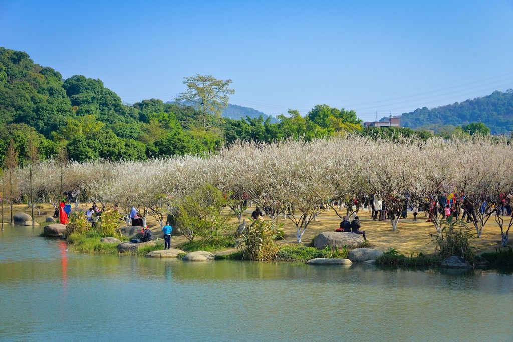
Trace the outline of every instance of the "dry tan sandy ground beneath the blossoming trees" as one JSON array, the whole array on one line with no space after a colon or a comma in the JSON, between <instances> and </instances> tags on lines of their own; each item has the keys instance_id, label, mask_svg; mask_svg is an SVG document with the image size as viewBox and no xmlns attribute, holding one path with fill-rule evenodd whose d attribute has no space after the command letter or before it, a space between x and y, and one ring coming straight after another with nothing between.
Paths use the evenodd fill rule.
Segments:
<instances>
[{"instance_id":1,"label":"dry tan sandy ground beneath the blossoming trees","mask_svg":"<svg viewBox=\"0 0 513 342\"><path fill-rule=\"evenodd\" d=\"M36 222L41 225L45 225L45 218L47 216L53 215L53 207L50 204L45 204L42 206L41 214L36 216ZM81 204L79 208L87 209L89 206L86 204ZM255 208L249 208L244 212L243 218L248 219L251 216L251 212ZM30 215L30 210L26 205L15 205L13 208L13 212L25 212ZM37 215L37 212L35 211ZM226 211L228 215L228 211ZM373 222L370 218L370 213L365 210L360 210L359 212L360 222L362 225L362 230L366 232L367 239L369 240L369 248L377 248L380 250L387 250L388 248L395 248L402 253L432 253L435 251L435 244L433 244L431 237L429 237L429 233L435 232L435 227L426 222L427 218L424 217L424 213L421 212L418 215L417 222L413 221L413 216L411 213L408 213L408 217L406 219L402 219L399 222L398 229L396 232L393 232L390 221L375 221ZM9 222L9 208L6 207L4 211L4 222ZM233 226L233 230L239 226L238 220L236 217L230 217L230 225ZM248 221L247 221L248 222ZM295 226L292 222L283 217L278 218L279 223L283 223L283 229L286 234L286 238L284 241L279 242L279 244L291 244L295 243ZM310 223L308 228L303 235L302 242L304 244L310 243L311 239L322 232L332 231L339 227L341 219L334 213L333 210L325 211L321 213L317 220ZM152 217L148 217L148 226L155 233L155 236L162 235L160 231L160 225L153 219ZM172 238L172 246L175 247L180 245L181 243L186 242L186 238L183 236L174 236ZM495 251L496 247L500 247L501 242L501 232L499 226L494 220L494 217L490 217L488 223L483 229L483 235L479 239L473 240L473 245L476 247L477 251Z\"/></svg>"}]
</instances>

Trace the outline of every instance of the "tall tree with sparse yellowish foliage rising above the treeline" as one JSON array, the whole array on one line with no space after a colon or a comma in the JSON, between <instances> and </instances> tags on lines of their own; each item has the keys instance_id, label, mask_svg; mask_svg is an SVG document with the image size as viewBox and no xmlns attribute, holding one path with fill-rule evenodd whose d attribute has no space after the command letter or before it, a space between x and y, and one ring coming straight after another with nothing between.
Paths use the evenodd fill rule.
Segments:
<instances>
[{"instance_id":1,"label":"tall tree with sparse yellowish foliage rising above the treeline","mask_svg":"<svg viewBox=\"0 0 513 342\"><path fill-rule=\"evenodd\" d=\"M203 114L203 128L207 130L207 114L220 117L228 107L229 95L235 90L230 88L231 79L217 79L212 75L184 77L187 90L177 96L177 100L192 103Z\"/></svg>"}]
</instances>

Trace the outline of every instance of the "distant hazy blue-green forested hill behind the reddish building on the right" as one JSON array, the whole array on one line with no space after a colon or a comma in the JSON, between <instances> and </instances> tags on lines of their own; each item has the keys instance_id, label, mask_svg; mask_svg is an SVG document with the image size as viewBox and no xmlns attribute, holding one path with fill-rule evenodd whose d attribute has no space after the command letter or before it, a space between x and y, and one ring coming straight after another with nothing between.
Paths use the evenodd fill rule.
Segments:
<instances>
[{"instance_id":1,"label":"distant hazy blue-green forested hill behind the reddish building on the right","mask_svg":"<svg viewBox=\"0 0 513 342\"><path fill-rule=\"evenodd\" d=\"M468 99L461 103L428 109L418 108L401 115L401 125L427 128L432 125L461 126L482 122L492 133L513 130L513 89L494 91L490 95Z\"/></svg>"}]
</instances>

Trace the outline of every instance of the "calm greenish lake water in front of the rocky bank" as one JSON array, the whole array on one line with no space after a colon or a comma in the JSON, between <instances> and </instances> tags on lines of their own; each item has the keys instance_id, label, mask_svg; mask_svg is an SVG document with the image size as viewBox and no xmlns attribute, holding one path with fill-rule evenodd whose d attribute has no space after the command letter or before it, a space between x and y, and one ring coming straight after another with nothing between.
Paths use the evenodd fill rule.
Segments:
<instances>
[{"instance_id":1,"label":"calm greenish lake water in front of the rocky bank","mask_svg":"<svg viewBox=\"0 0 513 342\"><path fill-rule=\"evenodd\" d=\"M513 340L507 271L81 255L0 233L0 340Z\"/></svg>"}]
</instances>

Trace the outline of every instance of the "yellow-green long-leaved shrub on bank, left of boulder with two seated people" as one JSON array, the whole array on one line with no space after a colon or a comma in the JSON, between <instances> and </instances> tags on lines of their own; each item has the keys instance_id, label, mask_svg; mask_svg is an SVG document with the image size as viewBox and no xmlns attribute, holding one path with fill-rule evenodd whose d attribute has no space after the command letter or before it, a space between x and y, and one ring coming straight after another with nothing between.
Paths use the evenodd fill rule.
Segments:
<instances>
[{"instance_id":1,"label":"yellow-green long-leaved shrub on bank, left of boulder with two seated people","mask_svg":"<svg viewBox=\"0 0 513 342\"><path fill-rule=\"evenodd\" d=\"M274 243L279 232L274 221L255 220L241 235L239 250L243 259L267 261L273 259L278 247Z\"/></svg>"}]
</instances>

